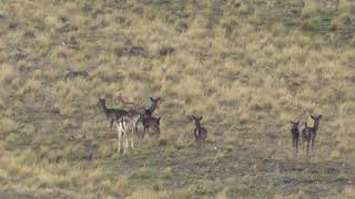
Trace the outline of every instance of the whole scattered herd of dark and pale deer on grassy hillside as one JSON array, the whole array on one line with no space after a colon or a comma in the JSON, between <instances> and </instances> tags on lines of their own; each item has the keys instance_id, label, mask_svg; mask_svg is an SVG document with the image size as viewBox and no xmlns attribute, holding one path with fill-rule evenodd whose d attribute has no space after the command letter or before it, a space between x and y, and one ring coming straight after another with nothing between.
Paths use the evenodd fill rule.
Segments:
<instances>
[{"instance_id":1,"label":"whole scattered herd of dark and pale deer on grassy hillside","mask_svg":"<svg viewBox=\"0 0 355 199\"><path fill-rule=\"evenodd\" d=\"M121 100L123 103L123 100ZM129 143L131 148L134 148L134 136L143 139L145 134L160 136L160 119L161 117L154 117L153 113L159 107L161 98L150 97L151 105L148 108L141 109L120 109L120 108L109 108L106 106L105 98L100 97L98 105L102 108L103 113L110 121L110 128L115 128L119 138L119 148L118 153L121 151L121 145L123 145L123 153L125 153L129 148ZM132 104L132 103L131 103ZM207 130L205 127L201 125L202 116L189 115L186 116L189 122L194 122L195 129L193 132L196 147L200 150L207 138ZM301 137L301 143L303 145L303 151L308 156L310 154L310 145L312 151L314 150L314 143L318 132L320 121L322 115L313 116L311 118L314 121L313 126L308 126L307 122L305 122L305 126L300 132L298 125L300 121L293 122L291 121L291 135L292 135L292 146L293 146L293 156L297 157L298 155L298 143ZM138 125L142 123L143 132L139 133ZM150 132L152 129L153 132Z\"/></svg>"}]
</instances>

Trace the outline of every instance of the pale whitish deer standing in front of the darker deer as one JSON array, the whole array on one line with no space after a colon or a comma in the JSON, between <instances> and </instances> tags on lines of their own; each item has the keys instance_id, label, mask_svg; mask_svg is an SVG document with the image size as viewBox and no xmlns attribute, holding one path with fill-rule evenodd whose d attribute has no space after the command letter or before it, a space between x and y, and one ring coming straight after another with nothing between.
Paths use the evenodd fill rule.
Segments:
<instances>
[{"instance_id":1,"label":"pale whitish deer standing in front of the darker deer","mask_svg":"<svg viewBox=\"0 0 355 199\"><path fill-rule=\"evenodd\" d=\"M119 138L119 148L118 153L121 151L121 143L123 145L123 154L125 154L129 147L129 139L131 139L131 148L134 149L133 136L135 134L135 124L141 117L141 114L135 111L131 111L126 115L116 119L116 132Z\"/></svg>"}]
</instances>

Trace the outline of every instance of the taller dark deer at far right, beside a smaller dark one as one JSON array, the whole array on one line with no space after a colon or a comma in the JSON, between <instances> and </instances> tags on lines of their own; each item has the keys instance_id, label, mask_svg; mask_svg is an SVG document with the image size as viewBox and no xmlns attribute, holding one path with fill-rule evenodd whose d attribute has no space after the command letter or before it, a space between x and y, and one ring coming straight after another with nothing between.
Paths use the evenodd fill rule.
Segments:
<instances>
[{"instance_id":1,"label":"taller dark deer at far right, beside a smaller dark one","mask_svg":"<svg viewBox=\"0 0 355 199\"><path fill-rule=\"evenodd\" d=\"M310 127L307 125L307 122L305 122L305 127L302 129L302 140L303 140L303 150L306 145L306 155L310 154L310 145L312 148L312 153L314 151L314 143L315 138L320 128L320 121L322 118L322 115L313 116L311 115L311 118L313 119L313 127Z\"/></svg>"}]
</instances>

